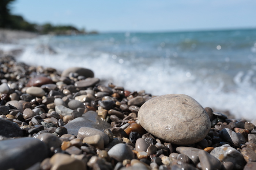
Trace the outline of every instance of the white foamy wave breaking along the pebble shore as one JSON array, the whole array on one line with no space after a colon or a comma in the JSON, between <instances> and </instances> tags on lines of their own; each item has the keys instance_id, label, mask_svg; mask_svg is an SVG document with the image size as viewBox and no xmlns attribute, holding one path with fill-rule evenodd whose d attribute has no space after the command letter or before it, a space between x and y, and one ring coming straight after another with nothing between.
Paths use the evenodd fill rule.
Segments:
<instances>
[{"instance_id":1,"label":"white foamy wave breaking along the pebble shore","mask_svg":"<svg viewBox=\"0 0 256 170\"><path fill-rule=\"evenodd\" d=\"M56 48L57 54L39 54L35 43L29 42L19 61L59 70L85 67L93 70L95 77L127 90L146 90L153 95L187 94L203 107L229 110L236 118L252 120L256 116L256 91L250 82L253 70L239 72L233 79L223 74L210 75L207 70L188 70L170 64L173 61L169 59L155 59L148 65L140 63L140 59L132 61L84 48L82 52Z\"/></svg>"}]
</instances>

